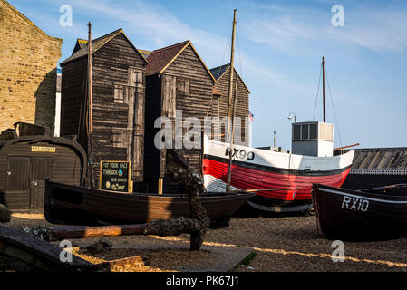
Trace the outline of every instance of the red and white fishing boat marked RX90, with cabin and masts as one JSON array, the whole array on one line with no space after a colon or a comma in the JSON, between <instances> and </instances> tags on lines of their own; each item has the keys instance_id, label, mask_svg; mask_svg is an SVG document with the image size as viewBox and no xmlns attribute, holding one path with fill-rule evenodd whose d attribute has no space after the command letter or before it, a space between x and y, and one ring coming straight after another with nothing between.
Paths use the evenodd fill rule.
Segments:
<instances>
[{"instance_id":1,"label":"red and white fishing boat marked RX90, with cabin and masts","mask_svg":"<svg viewBox=\"0 0 407 290\"><path fill-rule=\"evenodd\" d=\"M234 124L232 108L236 106L237 100L236 93L234 99L232 96L235 25L236 21L232 34L228 99L231 124ZM256 197L247 201L252 208L267 212L293 212L313 207L313 183L340 187L351 169L354 150L334 156L334 125L325 122L324 57L322 74L324 121L293 123L292 152L234 144L234 125L228 125L228 142L210 140L205 136L202 158L205 188L218 192L256 192Z\"/></svg>"}]
</instances>

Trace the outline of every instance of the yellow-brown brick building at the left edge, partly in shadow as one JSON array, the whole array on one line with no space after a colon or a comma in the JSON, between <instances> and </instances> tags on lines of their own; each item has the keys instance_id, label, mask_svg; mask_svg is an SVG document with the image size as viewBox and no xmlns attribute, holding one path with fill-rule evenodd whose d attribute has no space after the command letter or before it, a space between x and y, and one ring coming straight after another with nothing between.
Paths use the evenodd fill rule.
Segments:
<instances>
[{"instance_id":1,"label":"yellow-brown brick building at the left edge, partly in shadow","mask_svg":"<svg viewBox=\"0 0 407 290\"><path fill-rule=\"evenodd\" d=\"M5 0L0 0L0 39L0 131L24 121L53 133L63 40L45 34Z\"/></svg>"}]
</instances>

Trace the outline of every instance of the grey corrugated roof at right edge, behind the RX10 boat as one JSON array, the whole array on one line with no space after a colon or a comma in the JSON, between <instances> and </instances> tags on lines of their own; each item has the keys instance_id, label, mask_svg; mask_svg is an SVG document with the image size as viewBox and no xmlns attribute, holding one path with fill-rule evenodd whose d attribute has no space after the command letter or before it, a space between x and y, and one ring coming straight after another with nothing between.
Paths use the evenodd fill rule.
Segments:
<instances>
[{"instance_id":1,"label":"grey corrugated roof at right edge, behind the RX10 boat","mask_svg":"<svg viewBox=\"0 0 407 290\"><path fill-rule=\"evenodd\" d=\"M407 169L407 148L356 149L352 169Z\"/></svg>"}]
</instances>

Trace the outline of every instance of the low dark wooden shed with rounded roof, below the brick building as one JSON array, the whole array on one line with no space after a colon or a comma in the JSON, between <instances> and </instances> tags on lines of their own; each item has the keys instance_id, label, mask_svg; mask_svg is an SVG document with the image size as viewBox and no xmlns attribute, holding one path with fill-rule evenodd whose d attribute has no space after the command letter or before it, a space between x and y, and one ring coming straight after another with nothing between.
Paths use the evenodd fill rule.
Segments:
<instances>
[{"instance_id":1,"label":"low dark wooden shed with rounded roof, below the brick building","mask_svg":"<svg viewBox=\"0 0 407 290\"><path fill-rule=\"evenodd\" d=\"M25 123L0 135L0 203L10 209L43 209L46 178L82 186L85 176L86 154L74 139Z\"/></svg>"}]
</instances>

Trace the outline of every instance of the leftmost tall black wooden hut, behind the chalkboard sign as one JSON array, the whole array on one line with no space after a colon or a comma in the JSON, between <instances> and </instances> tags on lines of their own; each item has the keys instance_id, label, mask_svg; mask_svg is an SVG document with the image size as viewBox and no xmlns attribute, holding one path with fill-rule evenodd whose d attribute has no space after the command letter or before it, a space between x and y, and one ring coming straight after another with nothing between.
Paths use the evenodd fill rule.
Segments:
<instances>
[{"instance_id":1,"label":"leftmost tall black wooden hut, behind the chalkboard sign","mask_svg":"<svg viewBox=\"0 0 407 290\"><path fill-rule=\"evenodd\" d=\"M101 160L130 160L131 179L142 179L146 64L122 29L92 40L94 180ZM78 135L86 150L87 65L88 44L78 40L73 54L61 63L61 136Z\"/></svg>"}]
</instances>

